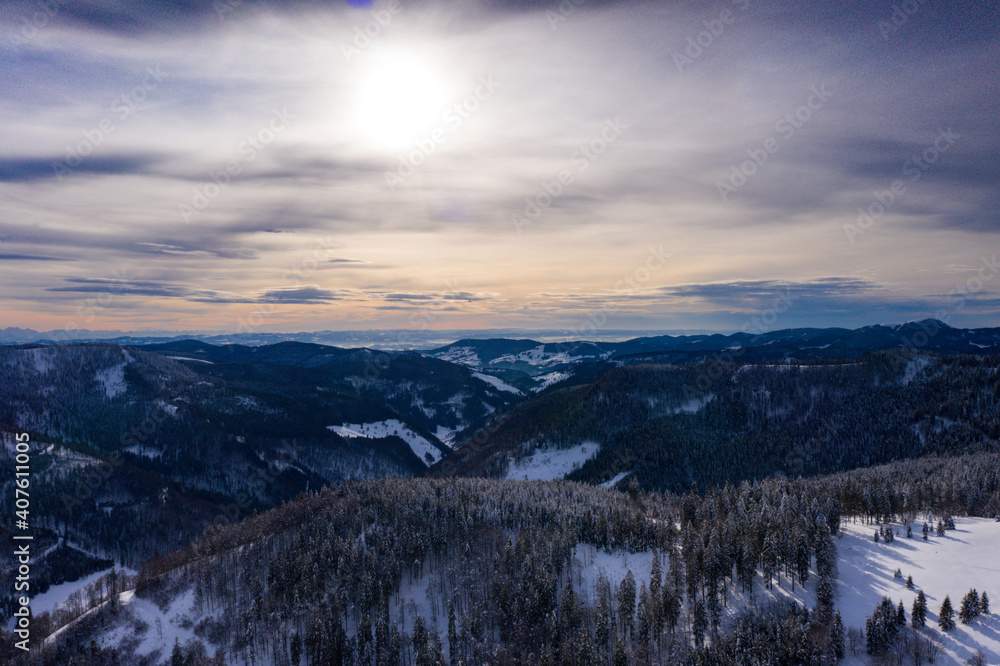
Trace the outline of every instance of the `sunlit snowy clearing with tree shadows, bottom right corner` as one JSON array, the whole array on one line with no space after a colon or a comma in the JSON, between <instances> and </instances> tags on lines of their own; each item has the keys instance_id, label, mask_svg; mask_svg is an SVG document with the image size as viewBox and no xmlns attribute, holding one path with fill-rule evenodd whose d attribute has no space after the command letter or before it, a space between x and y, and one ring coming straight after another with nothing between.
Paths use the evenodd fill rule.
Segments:
<instances>
[{"instance_id":1,"label":"sunlit snowy clearing with tree shadows, bottom right corner","mask_svg":"<svg viewBox=\"0 0 1000 666\"><path fill-rule=\"evenodd\" d=\"M910 608L923 590L927 596L926 635L941 646L938 664L964 664L982 650L986 663L1000 664L1000 523L984 518L956 518L955 530L943 537L931 533L921 538L917 523L913 538L906 538L906 528L896 525L898 536L892 543L875 543L875 527L847 523L837 540L839 575L837 608L846 627L864 629L865 618L883 596L895 603L903 601L909 619ZM894 578L899 569L903 578ZM915 589L906 589L906 577L913 576ZM990 614L980 616L971 624L958 620L962 597L972 588L990 597ZM938 627L938 610L945 595L951 597L955 609L956 627L942 632ZM852 661L853 659L853 661ZM849 658L845 663L867 663L861 658Z\"/></svg>"}]
</instances>

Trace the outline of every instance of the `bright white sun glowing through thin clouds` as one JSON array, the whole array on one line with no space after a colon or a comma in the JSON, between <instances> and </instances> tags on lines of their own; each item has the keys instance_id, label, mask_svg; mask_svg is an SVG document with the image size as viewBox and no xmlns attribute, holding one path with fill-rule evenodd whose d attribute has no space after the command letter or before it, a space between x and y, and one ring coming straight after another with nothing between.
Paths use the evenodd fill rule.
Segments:
<instances>
[{"instance_id":1,"label":"bright white sun glowing through thin clouds","mask_svg":"<svg viewBox=\"0 0 1000 666\"><path fill-rule=\"evenodd\" d=\"M371 54L361 73L357 127L370 146L402 150L442 124L450 89L438 68L417 54Z\"/></svg>"}]
</instances>

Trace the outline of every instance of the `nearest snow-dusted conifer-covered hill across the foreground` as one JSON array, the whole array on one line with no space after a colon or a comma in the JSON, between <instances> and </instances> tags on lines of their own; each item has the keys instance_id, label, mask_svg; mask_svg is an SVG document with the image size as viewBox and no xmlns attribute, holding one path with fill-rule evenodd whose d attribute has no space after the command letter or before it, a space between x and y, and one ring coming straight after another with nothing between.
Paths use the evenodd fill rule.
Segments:
<instances>
[{"instance_id":1,"label":"nearest snow-dusted conifer-covered hill across the foreground","mask_svg":"<svg viewBox=\"0 0 1000 666\"><path fill-rule=\"evenodd\" d=\"M169 646L140 611L175 618L163 631L195 663L835 663L842 522L994 515L998 469L997 454L924 458L704 495L350 483L210 530L144 567L134 599L105 584L35 663L159 663ZM649 566L595 577L587 544ZM766 602L796 586L805 606Z\"/></svg>"}]
</instances>

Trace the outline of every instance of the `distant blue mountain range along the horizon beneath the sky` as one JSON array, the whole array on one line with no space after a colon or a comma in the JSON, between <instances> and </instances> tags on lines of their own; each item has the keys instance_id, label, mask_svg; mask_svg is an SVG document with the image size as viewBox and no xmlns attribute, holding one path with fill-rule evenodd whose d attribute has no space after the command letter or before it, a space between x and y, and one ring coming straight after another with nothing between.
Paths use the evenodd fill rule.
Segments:
<instances>
[{"instance_id":1,"label":"distant blue mountain range along the horizon beneath the sky","mask_svg":"<svg viewBox=\"0 0 1000 666\"><path fill-rule=\"evenodd\" d=\"M39 332L0 329L0 345L54 342L113 342L126 346L175 344L197 340L209 345L261 347L304 342L345 348L424 350L434 358L469 367L493 367L538 374L563 362L599 361L634 355L661 355L658 360L694 362L723 350L747 354L747 359L850 358L865 351L897 347L939 353L978 354L1000 349L1000 328L953 328L936 319L858 329L792 328L767 333L672 333L605 330L599 339L572 340L564 330L430 331L417 329L313 331L301 333L125 332L76 330ZM457 340L457 342L452 342ZM749 352L749 350L757 350ZM741 354L737 354L740 356Z\"/></svg>"}]
</instances>

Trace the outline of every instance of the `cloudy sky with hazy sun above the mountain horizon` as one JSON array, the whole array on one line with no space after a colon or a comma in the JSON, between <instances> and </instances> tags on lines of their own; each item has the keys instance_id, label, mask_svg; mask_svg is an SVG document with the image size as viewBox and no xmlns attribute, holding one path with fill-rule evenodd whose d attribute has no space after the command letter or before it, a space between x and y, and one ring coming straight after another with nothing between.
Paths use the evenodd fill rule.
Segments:
<instances>
[{"instance_id":1,"label":"cloudy sky with hazy sun above the mountain horizon","mask_svg":"<svg viewBox=\"0 0 1000 666\"><path fill-rule=\"evenodd\" d=\"M1000 325L1000 11L0 5L0 327Z\"/></svg>"}]
</instances>

